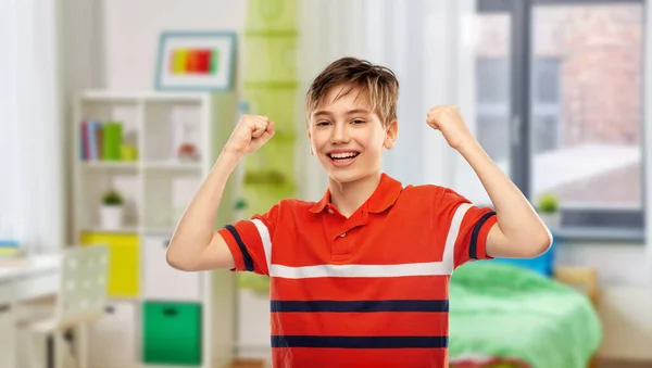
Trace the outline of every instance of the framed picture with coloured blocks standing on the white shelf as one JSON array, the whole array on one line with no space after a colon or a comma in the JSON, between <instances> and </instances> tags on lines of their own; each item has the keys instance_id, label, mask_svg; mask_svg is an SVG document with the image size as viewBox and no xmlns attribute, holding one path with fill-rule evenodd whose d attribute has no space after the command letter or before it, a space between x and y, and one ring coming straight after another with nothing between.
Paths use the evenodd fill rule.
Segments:
<instances>
[{"instance_id":1,"label":"framed picture with coloured blocks standing on the white shelf","mask_svg":"<svg viewBox=\"0 0 652 368\"><path fill-rule=\"evenodd\" d=\"M235 31L163 31L154 87L161 91L226 91L234 88Z\"/></svg>"}]
</instances>

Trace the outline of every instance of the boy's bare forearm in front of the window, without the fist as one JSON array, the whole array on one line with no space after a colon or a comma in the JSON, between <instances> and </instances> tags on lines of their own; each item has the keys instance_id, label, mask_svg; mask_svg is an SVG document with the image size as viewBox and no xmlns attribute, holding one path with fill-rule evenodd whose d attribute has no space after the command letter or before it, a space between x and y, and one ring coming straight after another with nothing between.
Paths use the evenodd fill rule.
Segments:
<instances>
[{"instance_id":1,"label":"boy's bare forearm in front of the window, without the fist","mask_svg":"<svg viewBox=\"0 0 652 368\"><path fill-rule=\"evenodd\" d=\"M550 232L518 187L498 167L480 144L473 140L460 148L496 208L498 226L509 246L541 248L550 244ZM544 246L548 246L544 245ZM536 253L536 252L535 252Z\"/></svg>"}]
</instances>

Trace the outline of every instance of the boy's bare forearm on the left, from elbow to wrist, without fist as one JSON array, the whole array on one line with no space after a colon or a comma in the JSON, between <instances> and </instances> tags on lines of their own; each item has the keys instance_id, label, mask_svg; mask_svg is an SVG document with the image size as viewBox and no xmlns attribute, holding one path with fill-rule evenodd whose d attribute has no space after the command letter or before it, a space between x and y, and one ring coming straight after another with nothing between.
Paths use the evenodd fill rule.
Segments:
<instances>
[{"instance_id":1,"label":"boy's bare forearm on the left, from elbow to wrist, without fist","mask_svg":"<svg viewBox=\"0 0 652 368\"><path fill-rule=\"evenodd\" d=\"M222 152L213 165L172 236L167 258L173 263L195 263L210 243L226 182L239 161L237 154Z\"/></svg>"}]
</instances>

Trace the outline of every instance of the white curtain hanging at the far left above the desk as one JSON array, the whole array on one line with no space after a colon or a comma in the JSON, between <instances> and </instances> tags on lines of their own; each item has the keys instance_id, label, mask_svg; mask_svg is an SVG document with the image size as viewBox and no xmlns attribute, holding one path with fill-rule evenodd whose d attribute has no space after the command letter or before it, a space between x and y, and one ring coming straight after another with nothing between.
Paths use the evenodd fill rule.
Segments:
<instances>
[{"instance_id":1,"label":"white curtain hanging at the far left above the desk","mask_svg":"<svg viewBox=\"0 0 652 368\"><path fill-rule=\"evenodd\" d=\"M0 238L29 253L64 241L55 3L0 0Z\"/></svg>"}]
</instances>

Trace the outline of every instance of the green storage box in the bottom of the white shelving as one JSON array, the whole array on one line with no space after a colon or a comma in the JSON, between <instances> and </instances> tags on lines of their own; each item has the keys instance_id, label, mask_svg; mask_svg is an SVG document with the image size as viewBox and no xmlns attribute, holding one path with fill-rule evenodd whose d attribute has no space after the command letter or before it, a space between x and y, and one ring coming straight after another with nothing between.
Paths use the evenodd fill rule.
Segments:
<instances>
[{"instance_id":1,"label":"green storage box in the bottom of the white shelving","mask_svg":"<svg viewBox=\"0 0 652 368\"><path fill-rule=\"evenodd\" d=\"M145 302L142 359L146 364L201 365L201 305Z\"/></svg>"}]
</instances>

